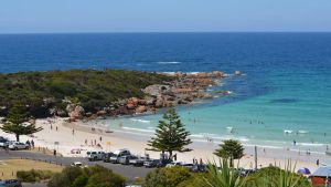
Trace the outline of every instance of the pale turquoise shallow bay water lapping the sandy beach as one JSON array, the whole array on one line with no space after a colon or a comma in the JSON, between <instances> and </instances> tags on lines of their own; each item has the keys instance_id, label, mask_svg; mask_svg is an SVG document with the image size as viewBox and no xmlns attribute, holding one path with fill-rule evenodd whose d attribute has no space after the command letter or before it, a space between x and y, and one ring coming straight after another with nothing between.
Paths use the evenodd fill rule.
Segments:
<instances>
[{"instance_id":1,"label":"pale turquoise shallow bay water lapping the sandy beach","mask_svg":"<svg viewBox=\"0 0 331 187\"><path fill-rule=\"evenodd\" d=\"M331 143L331 97L328 96L331 80L328 73L301 72L298 76L291 72L274 72L265 80L271 85L271 91L241 100L247 94L241 85L249 80L248 76L254 74L232 76L223 80L222 86L210 87L211 92L233 89L229 96L179 107L193 139L205 142L210 137L220 142L237 138L245 145L325 152ZM111 128L118 128L118 123L122 123L125 131L150 135L160 117L145 115L106 123Z\"/></svg>"}]
</instances>

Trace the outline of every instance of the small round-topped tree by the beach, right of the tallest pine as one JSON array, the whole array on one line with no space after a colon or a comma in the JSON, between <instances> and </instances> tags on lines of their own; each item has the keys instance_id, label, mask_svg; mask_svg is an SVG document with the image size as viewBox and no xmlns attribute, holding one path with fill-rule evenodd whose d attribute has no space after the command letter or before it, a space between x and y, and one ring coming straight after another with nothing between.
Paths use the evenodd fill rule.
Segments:
<instances>
[{"instance_id":1,"label":"small round-topped tree by the beach, right of the tallest pine","mask_svg":"<svg viewBox=\"0 0 331 187\"><path fill-rule=\"evenodd\" d=\"M229 159L229 166L233 167L233 160L244 156L244 147L238 141L226 139L220 144L220 148L215 149L214 155Z\"/></svg>"}]
</instances>

